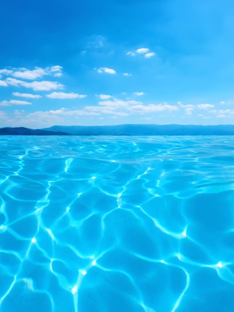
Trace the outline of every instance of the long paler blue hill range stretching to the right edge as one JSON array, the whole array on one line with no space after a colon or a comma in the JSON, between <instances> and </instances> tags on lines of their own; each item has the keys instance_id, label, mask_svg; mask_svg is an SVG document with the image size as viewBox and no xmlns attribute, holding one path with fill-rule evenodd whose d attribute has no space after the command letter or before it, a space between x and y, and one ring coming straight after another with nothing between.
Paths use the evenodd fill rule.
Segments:
<instances>
[{"instance_id":1,"label":"long paler blue hill range stretching to the right edge","mask_svg":"<svg viewBox=\"0 0 234 312\"><path fill-rule=\"evenodd\" d=\"M118 125L118 126L53 126L44 131L65 132L79 136L211 136L234 135L234 125Z\"/></svg>"}]
</instances>

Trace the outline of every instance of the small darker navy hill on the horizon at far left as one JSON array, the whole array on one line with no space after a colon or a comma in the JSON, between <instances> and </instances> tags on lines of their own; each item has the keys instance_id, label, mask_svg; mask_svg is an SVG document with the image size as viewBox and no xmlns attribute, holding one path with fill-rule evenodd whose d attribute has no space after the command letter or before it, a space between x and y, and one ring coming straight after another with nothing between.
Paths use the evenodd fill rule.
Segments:
<instances>
[{"instance_id":1,"label":"small darker navy hill on the horizon at far left","mask_svg":"<svg viewBox=\"0 0 234 312\"><path fill-rule=\"evenodd\" d=\"M0 129L1 136L69 136L69 134L64 132L54 132L47 130L33 130L24 127L18 128L1 128Z\"/></svg>"}]
</instances>

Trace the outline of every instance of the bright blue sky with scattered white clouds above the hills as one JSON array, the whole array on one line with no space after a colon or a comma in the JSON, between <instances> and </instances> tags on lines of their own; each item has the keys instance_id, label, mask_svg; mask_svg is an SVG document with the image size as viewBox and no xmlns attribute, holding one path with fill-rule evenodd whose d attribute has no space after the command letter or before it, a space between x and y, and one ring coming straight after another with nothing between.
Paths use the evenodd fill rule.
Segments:
<instances>
[{"instance_id":1,"label":"bright blue sky with scattered white clouds above the hills","mask_svg":"<svg viewBox=\"0 0 234 312\"><path fill-rule=\"evenodd\" d=\"M231 0L7 0L0 12L0 127L234 123Z\"/></svg>"}]
</instances>

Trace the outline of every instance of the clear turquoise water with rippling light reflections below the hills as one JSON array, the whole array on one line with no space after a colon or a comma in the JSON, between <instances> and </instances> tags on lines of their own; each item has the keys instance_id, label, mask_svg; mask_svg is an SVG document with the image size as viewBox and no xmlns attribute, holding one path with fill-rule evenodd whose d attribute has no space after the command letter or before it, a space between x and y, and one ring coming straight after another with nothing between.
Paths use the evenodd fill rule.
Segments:
<instances>
[{"instance_id":1,"label":"clear turquoise water with rippling light reflections below the hills","mask_svg":"<svg viewBox=\"0 0 234 312\"><path fill-rule=\"evenodd\" d=\"M234 137L0 137L0 312L233 312Z\"/></svg>"}]
</instances>

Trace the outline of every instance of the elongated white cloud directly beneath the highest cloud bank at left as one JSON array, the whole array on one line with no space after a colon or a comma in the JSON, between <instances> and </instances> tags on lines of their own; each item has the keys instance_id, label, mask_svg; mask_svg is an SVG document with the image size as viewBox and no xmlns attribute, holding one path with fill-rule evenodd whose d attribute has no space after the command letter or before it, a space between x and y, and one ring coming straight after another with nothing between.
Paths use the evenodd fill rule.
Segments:
<instances>
[{"instance_id":1,"label":"elongated white cloud directly beneath the highest cloud bank at left","mask_svg":"<svg viewBox=\"0 0 234 312\"><path fill-rule=\"evenodd\" d=\"M32 81L26 82L15 78L6 78L6 83L10 86L22 86L32 88L34 91L49 91L52 89L63 89L63 85L57 81Z\"/></svg>"}]
</instances>

